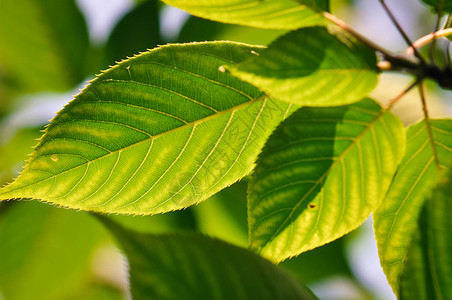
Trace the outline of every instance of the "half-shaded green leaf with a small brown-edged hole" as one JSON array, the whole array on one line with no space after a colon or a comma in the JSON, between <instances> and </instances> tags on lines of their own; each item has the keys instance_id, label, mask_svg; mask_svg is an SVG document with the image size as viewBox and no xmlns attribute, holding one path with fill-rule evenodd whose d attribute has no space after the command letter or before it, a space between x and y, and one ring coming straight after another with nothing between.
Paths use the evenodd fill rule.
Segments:
<instances>
[{"instance_id":1,"label":"half-shaded green leaf with a small brown-edged hole","mask_svg":"<svg viewBox=\"0 0 452 300\"><path fill-rule=\"evenodd\" d=\"M282 261L361 225L389 187L403 132L370 99L295 112L270 137L250 182L251 248Z\"/></svg>"}]
</instances>

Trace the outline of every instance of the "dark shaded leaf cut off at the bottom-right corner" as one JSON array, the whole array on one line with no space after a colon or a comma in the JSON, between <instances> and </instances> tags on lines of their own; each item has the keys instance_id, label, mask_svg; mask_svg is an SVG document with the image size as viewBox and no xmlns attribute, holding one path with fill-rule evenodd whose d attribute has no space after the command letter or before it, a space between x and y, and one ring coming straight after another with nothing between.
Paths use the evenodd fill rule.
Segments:
<instances>
[{"instance_id":1,"label":"dark shaded leaf cut off at the bottom-right corner","mask_svg":"<svg viewBox=\"0 0 452 300\"><path fill-rule=\"evenodd\" d=\"M452 172L428 196L403 265L401 299L452 297Z\"/></svg>"}]
</instances>

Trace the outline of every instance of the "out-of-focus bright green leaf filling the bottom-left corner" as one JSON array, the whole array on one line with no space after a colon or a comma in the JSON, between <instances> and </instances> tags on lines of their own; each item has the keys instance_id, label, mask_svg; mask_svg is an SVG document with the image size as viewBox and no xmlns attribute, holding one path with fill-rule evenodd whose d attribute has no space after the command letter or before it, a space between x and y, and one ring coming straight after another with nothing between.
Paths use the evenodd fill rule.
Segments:
<instances>
[{"instance_id":1,"label":"out-of-focus bright green leaf filling the bottom-left corner","mask_svg":"<svg viewBox=\"0 0 452 300\"><path fill-rule=\"evenodd\" d=\"M92 255L108 240L105 229L85 213L38 202L3 204L0 295L4 299L68 299L93 275Z\"/></svg>"}]
</instances>

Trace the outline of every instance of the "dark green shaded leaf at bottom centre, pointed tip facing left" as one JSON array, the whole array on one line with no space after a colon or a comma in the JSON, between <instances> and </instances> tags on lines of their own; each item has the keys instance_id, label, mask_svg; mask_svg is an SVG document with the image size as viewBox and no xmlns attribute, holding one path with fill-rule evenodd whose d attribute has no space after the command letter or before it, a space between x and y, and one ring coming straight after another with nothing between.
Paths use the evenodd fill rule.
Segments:
<instances>
[{"instance_id":1,"label":"dark green shaded leaf at bottom centre, pointed tip facing left","mask_svg":"<svg viewBox=\"0 0 452 300\"><path fill-rule=\"evenodd\" d=\"M134 299L315 299L246 249L192 233L137 234L101 220L128 257Z\"/></svg>"}]
</instances>

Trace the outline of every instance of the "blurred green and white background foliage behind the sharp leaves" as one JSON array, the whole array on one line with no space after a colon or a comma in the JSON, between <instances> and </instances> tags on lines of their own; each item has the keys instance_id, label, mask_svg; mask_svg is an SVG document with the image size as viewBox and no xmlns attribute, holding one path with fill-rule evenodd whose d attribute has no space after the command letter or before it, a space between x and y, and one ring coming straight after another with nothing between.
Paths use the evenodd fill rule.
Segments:
<instances>
[{"instance_id":1,"label":"blurred green and white background foliage behind the sharp leaves","mask_svg":"<svg viewBox=\"0 0 452 300\"><path fill-rule=\"evenodd\" d=\"M406 45L377 2L332 1L331 10L383 46L404 51ZM433 28L434 18L420 1L391 5L414 38ZM99 31L95 25L105 16L110 26ZM418 26L420 22L425 26ZM21 170L52 114L100 70L168 42L267 45L281 34L191 17L154 0L0 0L0 184ZM409 81L384 74L373 96L388 101ZM409 94L395 107L406 124L421 116L416 96ZM450 99L450 93L430 85L433 115L450 115ZM108 217L139 232L197 231L246 247L246 179L183 211ZM371 234L369 224L364 232ZM355 231L281 266L321 299L390 299L374 242L363 238L364 232ZM126 299L127 286L126 259L89 213L39 202L0 203L0 299Z\"/></svg>"}]
</instances>

